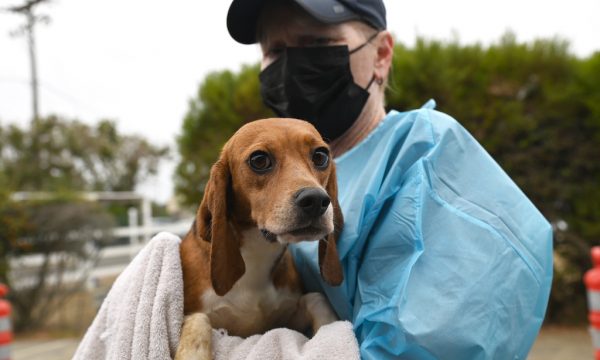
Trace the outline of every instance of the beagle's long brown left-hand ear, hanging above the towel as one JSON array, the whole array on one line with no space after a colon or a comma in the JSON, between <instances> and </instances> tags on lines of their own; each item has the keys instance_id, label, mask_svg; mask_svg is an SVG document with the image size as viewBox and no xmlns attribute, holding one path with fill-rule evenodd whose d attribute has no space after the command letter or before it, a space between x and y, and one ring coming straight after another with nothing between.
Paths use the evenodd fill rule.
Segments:
<instances>
[{"instance_id":1,"label":"beagle's long brown left-hand ear, hanging above the towel","mask_svg":"<svg viewBox=\"0 0 600 360\"><path fill-rule=\"evenodd\" d=\"M229 223L231 198L231 173L222 156L210 171L196 219L198 234L211 243L210 279L219 296L231 290L246 271L239 239Z\"/></svg>"}]
</instances>

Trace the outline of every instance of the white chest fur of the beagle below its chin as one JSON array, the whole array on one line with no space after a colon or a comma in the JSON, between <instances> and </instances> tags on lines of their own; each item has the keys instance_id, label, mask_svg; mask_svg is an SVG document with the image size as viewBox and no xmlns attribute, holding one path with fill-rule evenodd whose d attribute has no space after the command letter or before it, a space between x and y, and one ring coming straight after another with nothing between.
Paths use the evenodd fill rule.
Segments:
<instances>
[{"instance_id":1,"label":"white chest fur of the beagle below its chin","mask_svg":"<svg viewBox=\"0 0 600 360\"><path fill-rule=\"evenodd\" d=\"M203 311L213 328L249 336L283 326L298 307L301 294L277 289L271 281L274 261L284 250L255 232L244 234L241 247L246 272L224 296L212 289L202 296Z\"/></svg>"}]
</instances>

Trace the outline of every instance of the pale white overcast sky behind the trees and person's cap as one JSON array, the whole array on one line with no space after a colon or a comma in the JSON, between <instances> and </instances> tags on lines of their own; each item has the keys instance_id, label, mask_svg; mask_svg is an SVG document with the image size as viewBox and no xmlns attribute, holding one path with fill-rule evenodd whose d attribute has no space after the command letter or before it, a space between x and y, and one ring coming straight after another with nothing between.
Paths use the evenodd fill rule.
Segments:
<instances>
[{"instance_id":1,"label":"pale white overcast sky behind the trees and person's cap","mask_svg":"<svg viewBox=\"0 0 600 360\"><path fill-rule=\"evenodd\" d=\"M0 8L25 0L0 0ZM172 147L173 159L140 192L159 202L172 196L175 139L188 101L206 74L255 63L256 46L227 32L230 1L52 0L38 6L49 24L36 28L41 115L89 124L113 119L121 132ZM600 0L387 0L396 41L417 36L497 42L559 37L578 56L600 51ZM29 58L23 37L10 33L22 16L0 12L0 123L31 118Z\"/></svg>"}]
</instances>

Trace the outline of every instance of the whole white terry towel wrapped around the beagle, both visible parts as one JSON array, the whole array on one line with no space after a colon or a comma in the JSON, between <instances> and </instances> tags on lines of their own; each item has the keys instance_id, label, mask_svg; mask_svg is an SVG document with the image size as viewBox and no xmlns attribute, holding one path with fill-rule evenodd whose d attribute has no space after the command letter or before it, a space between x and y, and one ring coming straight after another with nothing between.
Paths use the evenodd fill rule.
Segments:
<instances>
[{"instance_id":1,"label":"whole white terry towel wrapped around the beagle, both visible parts","mask_svg":"<svg viewBox=\"0 0 600 360\"><path fill-rule=\"evenodd\" d=\"M156 235L113 284L73 359L171 359L183 322L180 239ZM274 329L246 339L213 330L215 360L360 359L352 324L323 326L312 339Z\"/></svg>"}]
</instances>

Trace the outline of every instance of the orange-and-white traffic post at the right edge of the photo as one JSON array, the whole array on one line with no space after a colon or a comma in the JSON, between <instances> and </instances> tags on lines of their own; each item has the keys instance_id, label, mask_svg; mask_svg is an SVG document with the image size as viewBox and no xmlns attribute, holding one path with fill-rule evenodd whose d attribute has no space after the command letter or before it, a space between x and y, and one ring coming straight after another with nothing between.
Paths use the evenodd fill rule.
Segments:
<instances>
[{"instance_id":1,"label":"orange-and-white traffic post at the right edge of the photo","mask_svg":"<svg viewBox=\"0 0 600 360\"><path fill-rule=\"evenodd\" d=\"M588 318L595 359L600 360L600 246L594 246L591 253L594 267L586 271L583 282L587 288Z\"/></svg>"}]
</instances>

